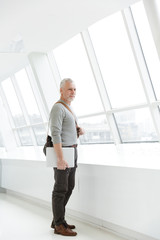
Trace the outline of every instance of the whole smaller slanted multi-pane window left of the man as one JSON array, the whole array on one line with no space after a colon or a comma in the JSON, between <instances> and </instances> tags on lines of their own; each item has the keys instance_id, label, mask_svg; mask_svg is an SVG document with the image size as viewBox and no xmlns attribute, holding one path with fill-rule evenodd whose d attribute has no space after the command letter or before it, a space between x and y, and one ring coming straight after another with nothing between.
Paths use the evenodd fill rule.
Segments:
<instances>
[{"instance_id":1,"label":"whole smaller slanted multi-pane window left of the man","mask_svg":"<svg viewBox=\"0 0 160 240\"><path fill-rule=\"evenodd\" d=\"M4 80L2 89L19 144L44 145L46 129L26 70L22 69L11 78Z\"/></svg>"}]
</instances>

